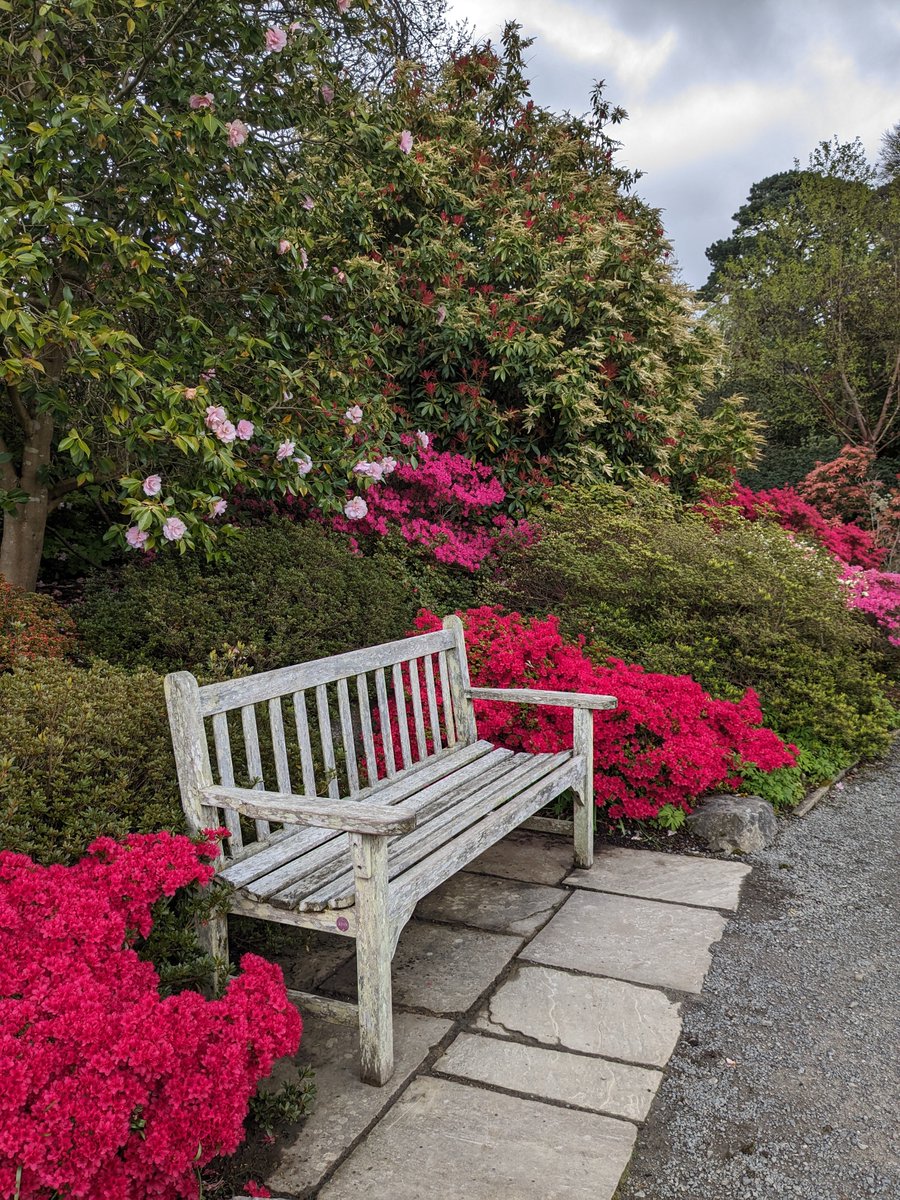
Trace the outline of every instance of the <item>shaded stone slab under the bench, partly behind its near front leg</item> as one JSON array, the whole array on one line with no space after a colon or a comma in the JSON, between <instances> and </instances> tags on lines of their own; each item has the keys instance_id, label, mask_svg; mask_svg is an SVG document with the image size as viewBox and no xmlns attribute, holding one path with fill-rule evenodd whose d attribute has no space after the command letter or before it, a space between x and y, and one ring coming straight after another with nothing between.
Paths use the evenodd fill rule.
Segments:
<instances>
[{"instance_id":1,"label":"shaded stone slab under the bench, partly behind its near front leg","mask_svg":"<svg viewBox=\"0 0 900 1200\"><path fill-rule=\"evenodd\" d=\"M394 955L394 1006L430 1013L464 1013L490 988L522 944L508 934L450 929L410 920ZM341 967L323 989L356 998L356 960Z\"/></svg>"}]
</instances>

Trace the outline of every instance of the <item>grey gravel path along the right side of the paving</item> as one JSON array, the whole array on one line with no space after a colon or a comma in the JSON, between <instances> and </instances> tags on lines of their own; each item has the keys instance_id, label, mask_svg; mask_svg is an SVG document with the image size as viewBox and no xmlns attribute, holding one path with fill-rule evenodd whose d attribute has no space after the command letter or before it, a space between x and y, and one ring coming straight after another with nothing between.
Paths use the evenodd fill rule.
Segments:
<instances>
[{"instance_id":1,"label":"grey gravel path along the right side of the paving","mask_svg":"<svg viewBox=\"0 0 900 1200\"><path fill-rule=\"evenodd\" d=\"M898 1200L900 743L748 862L617 1200Z\"/></svg>"}]
</instances>

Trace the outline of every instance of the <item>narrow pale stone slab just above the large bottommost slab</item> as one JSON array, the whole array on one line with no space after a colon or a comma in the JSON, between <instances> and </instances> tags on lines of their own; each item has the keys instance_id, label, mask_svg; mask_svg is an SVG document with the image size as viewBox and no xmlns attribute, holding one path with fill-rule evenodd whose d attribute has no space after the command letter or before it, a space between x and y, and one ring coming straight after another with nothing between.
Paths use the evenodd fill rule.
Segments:
<instances>
[{"instance_id":1,"label":"narrow pale stone slab just above the large bottommost slab","mask_svg":"<svg viewBox=\"0 0 900 1200\"><path fill-rule=\"evenodd\" d=\"M473 1033L461 1033L434 1070L630 1121L643 1121L662 1080L646 1067Z\"/></svg>"}]
</instances>

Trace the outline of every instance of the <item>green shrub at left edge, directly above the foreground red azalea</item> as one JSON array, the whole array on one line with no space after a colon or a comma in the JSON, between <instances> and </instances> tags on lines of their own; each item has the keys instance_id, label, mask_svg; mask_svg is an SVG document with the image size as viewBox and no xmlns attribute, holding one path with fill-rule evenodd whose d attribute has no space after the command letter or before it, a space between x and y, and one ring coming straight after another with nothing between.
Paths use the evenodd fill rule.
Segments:
<instances>
[{"instance_id":1,"label":"green shrub at left edge, directly above the foreground red azalea","mask_svg":"<svg viewBox=\"0 0 900 1200\"><path fill-rule=\"evenodd\" d=\"M182 830L162 679L53 659L0 676L0 846L72 863L100 834Z\"/></svg>"}]
</instances>

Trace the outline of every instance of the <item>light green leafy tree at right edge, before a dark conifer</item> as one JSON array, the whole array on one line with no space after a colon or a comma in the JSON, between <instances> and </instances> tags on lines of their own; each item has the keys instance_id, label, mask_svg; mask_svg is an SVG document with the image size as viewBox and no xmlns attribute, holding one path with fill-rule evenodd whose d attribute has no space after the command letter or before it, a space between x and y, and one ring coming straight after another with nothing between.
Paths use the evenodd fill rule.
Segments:
<instances>
[{"instance_id":1,"label":"light green leafy tree at right edge, before a dark conifer","mask_svg":"<svg viewBox=\"0 0 900 1200\"><path fill-rule=\"evenodd\" d=\"M858 143L823 143L794 194L720 270L714 308L776 439L900 439L900 188Z\"/></svg>"}]
</instances>

